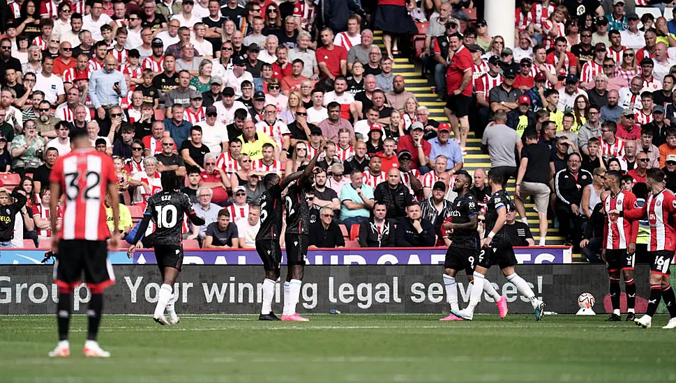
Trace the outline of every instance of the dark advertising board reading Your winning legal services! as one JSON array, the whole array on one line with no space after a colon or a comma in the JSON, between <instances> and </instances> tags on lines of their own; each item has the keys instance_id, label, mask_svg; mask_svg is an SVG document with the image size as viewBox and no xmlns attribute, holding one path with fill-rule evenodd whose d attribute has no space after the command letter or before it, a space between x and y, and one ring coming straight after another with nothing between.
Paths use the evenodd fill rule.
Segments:
<instances>
[{"instance_id":1,"label":"dark advertising board reading Your winning legal services!","mask_svg":"<svg viewBox=\"0 0 676 383\"><path fill-rule=\"evenodd\" d=\"M57 287L52 267L45 265L0 265L0 314L54 313ZM158 269L153 265L119 265L114 268L117 283L106 290L105 311L119 314L153 312L160 287ZM596 313L610 311L608 274L605 265L522 265L520 276L532 283L547 311L575 313L577 297L591 292ZM458 274L458 298L465 306L470 296L467 279ZM285 275L285 268L282 270ZM649 295L649 267L636 267L637 313L645 312ZM188 265L174 286L176 311L190 314L253 314L260 310L260 266ZM507 282L497 267L488 279L505 295L511 313L532 313L530 303ZM278 285L276 312L281 312ZM85 313L89 290L75 291L75 313ZM622 297L622 311L626 299ZM442 267L433 265L324 265L306 269L299 313L446 313ZM497 313L486 295L477 313Z\"/></svg>"}]
</instances>

